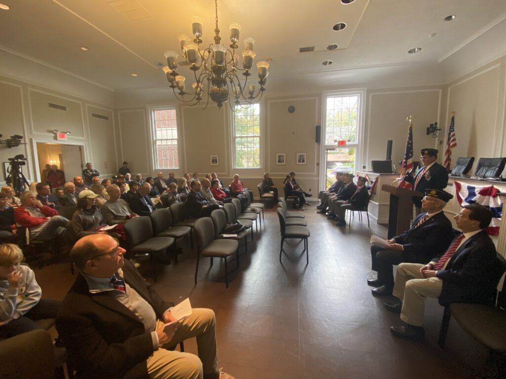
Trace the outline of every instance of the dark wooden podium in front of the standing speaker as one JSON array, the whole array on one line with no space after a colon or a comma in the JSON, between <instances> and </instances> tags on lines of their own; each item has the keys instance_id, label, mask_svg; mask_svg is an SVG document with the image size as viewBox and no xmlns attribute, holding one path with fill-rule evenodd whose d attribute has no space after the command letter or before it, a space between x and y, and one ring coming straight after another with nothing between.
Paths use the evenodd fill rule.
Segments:
<instances>
[{"instance_id":1,"label":"dark wooden podium in front of the standing speaker","mask_svg":"<svg viewBox=\"0 0 506 379\"><path fill-rule=\"evenodd\" d=\"M413 197L423 198L425 194L411 189L383 184L381 189L390 194L390 210L388 215L388 239L409 229L413 214Z\"/></svg>"}]
</instances>

